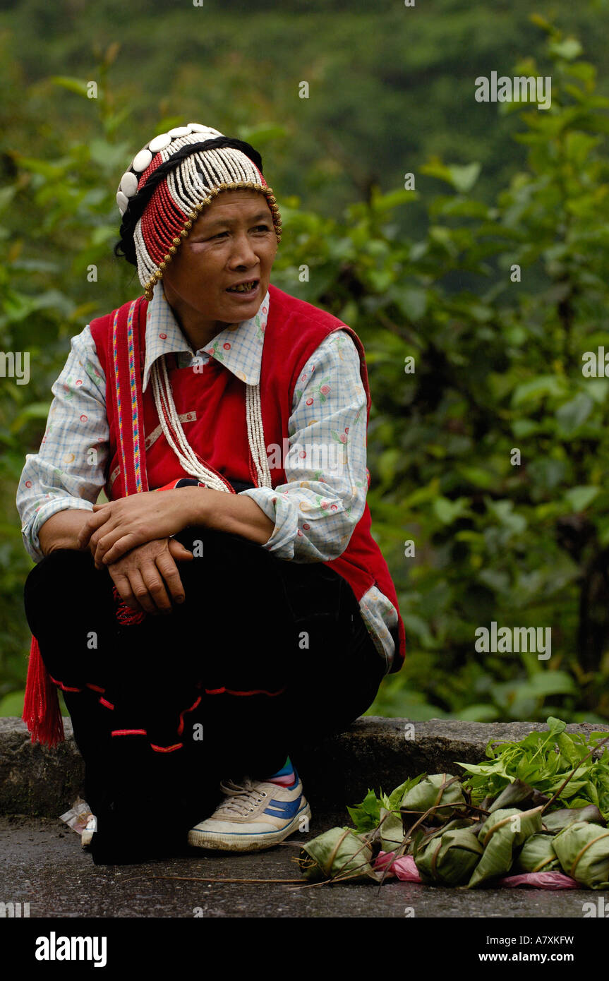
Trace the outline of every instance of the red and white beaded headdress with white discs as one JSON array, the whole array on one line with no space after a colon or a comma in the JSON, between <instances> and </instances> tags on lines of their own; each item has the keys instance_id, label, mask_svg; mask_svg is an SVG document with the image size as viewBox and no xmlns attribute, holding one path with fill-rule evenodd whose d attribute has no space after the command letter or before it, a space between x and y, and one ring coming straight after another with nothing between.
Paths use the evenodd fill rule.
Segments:
<instances>
[{"instance_id":1,"label":"red and white beaded headdress with white discs","mask_svg":"<svg viewBox=\"0 0 609 981\"><path fill-rule=\"evenodd\" d=\"M178 154L176 167L170 169L155 187L133 230L137 275L149 300L152 299L154 285L163 278L178 246L187 237L203 208L223 190L243 187L264 194L273 215L278 241L281 240L281 218L273 188L242 150L233 146L216 146L218 137L226 139L218 129L199 123L189 123L188 126L160 133L135 154L121 179L117 204L125 224L129 201L142 190L159 167ZM210 142L206 149L206 144ZM195 148L198 145L200 149ZM190 146L193 147L192 152L186 149Z\"/></svg>"}]
</instances>

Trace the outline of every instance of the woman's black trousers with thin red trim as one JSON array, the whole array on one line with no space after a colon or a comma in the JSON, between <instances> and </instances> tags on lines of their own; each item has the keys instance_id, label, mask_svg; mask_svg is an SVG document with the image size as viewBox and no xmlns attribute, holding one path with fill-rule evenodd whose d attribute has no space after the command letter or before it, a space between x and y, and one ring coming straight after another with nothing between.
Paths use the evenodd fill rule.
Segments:
<instances>
[{"instance_id":1,"label":"woman's black trousers with thin red trim","mask_svg":"<svg viewBox=\"0 0 609 981\"><path fill-rule=\"evenodd\" d=\"M278 559L240 536L190 528L185 601L122 624L107 570L58 550L29 573L25 613L61 684L97 816L93 858L183 844L218 783L276 772L347 728L384 673L351 587L323 563ZM202 554L201 554L202 553Z\"/></svg>"}]
</instances>

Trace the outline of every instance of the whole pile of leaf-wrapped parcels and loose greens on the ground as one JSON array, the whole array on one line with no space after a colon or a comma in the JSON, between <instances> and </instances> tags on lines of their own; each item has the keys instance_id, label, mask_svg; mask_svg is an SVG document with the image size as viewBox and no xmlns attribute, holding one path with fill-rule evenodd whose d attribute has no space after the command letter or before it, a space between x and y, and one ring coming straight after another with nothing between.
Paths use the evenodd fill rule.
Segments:
<instances>
[{"instance_id":1,"label":"whole pile of leaf-wrapped parcels and loose greens on the ground","mask_svg":"<svg viewBox=\"0 0 609 981\"><path fill-rule=\"evenodd\" d=\"M303 847L302 874L382 882L395 858L412 855L430 885L476 889L562 869L586 888L609 888L609 753L599 749L609 737L570 737L560 719L547 722L547 732L519 743L489 743L484 763L458 763L465 779L420 774L388 797L369 790L347 808L354 828L332 828ZM382 876L379 852L391 856Z\"/></svg>"}]
</instances>

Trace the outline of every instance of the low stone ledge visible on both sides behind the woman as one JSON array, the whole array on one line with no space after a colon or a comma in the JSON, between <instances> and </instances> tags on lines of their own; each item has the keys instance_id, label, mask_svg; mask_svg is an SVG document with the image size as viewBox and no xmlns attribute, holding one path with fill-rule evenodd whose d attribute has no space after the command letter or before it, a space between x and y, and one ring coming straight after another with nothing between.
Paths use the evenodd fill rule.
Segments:
<instances>
[{"instance_id":1,"label":"low stone ledge visible on both sides behind the woman","mask_svg":"<svg viewBox=\"0 0 609 981\"><path fill-rule=\"evenodd\" d=\"M407 724L413 727L410 732ZM64 719L64 728L66 742L47 749L31 744L21 719L0 718L0 814L57 817L82 793L84 767L70 719ZM489 740L519 740L532 730L546 729L545 723L533 722L409 722L365 716L339 736L300 749L294 759L312 807L340 815L345 804L362 800L369 787L388 793L419 773L458 773L457 761L484 759ZM567 726L567 732L584 735L594 730L609 735L609 725Z\"/></svg>"}]
</instances>

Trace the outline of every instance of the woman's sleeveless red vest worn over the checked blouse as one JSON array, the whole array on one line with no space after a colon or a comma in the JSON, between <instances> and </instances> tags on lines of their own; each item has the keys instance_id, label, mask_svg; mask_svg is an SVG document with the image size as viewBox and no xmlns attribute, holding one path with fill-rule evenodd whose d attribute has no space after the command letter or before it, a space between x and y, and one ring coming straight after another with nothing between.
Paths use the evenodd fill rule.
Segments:
<instances>
[{"instance_id":1,"label":"woman's sleeveless red vest worn over the checked blouse","mask_svg":"<svg viewBox=\"0 0 609 981\"><path fill-rule=\"evenodd\" d=\"M324 338L332 332L347 331L358 350L360 374L366 390L367 422L370 417L371 398L364 347L355 332L336 317L310 303L290 296L277 286L270 285L269 291L271 302L262 352L260 400L267 452L270 452L271 444L280 447L279 460L277 452L275 454L277 464L283 461L285 455L283 447L287 447L292 397L300 373ZM127 306L130 304L125 305ZM141 378L145 355L147 306L146 300L141 298L139 324L133 324L133 330L138 326L138 338L136 337L135 340L139 340L139 378ZM124 309L121 308L121 312ZM112 330L114 314L115 311L90 323L97 355L106 376L106 406L110 425L110 464L107 470L106 493L110 499L122 497L127 492L118 439L117 383L113 361ZM137 319L136 314L133 319ZM168 362L172 360L168 359ZM168 371L184 434L189 444L205 461L206 466L227 482L237 481L257 486L256 469L247 439L245 383L214 357L210 358L200 373L192 368L178 369L169 363ZM141 382L139 388L138 397L145 435L147 486L150 490L154 490L189 475L181 468L174 450L169 446L160 429L152 384L148 384L143 396ZM126 402L127 398L124 396L123 403ZM273 463L272 457L271 480L275 488L285 484L286 477L283 468ZM370 485L370 473L368 473L368 483ZM227 486L228 490L234 492L229 483ZM368 590L377 586L395 606L398 612L399 644L396 645L391 667L390 673L393 673L402 666L406 653L404 625L399 616L397 595L387 564L379 545L371 535L370 528L371 515L366 503L364 513L344 551L337 558L324 564L347 580L358 602Z\"/></svg>"}]
</instances>

